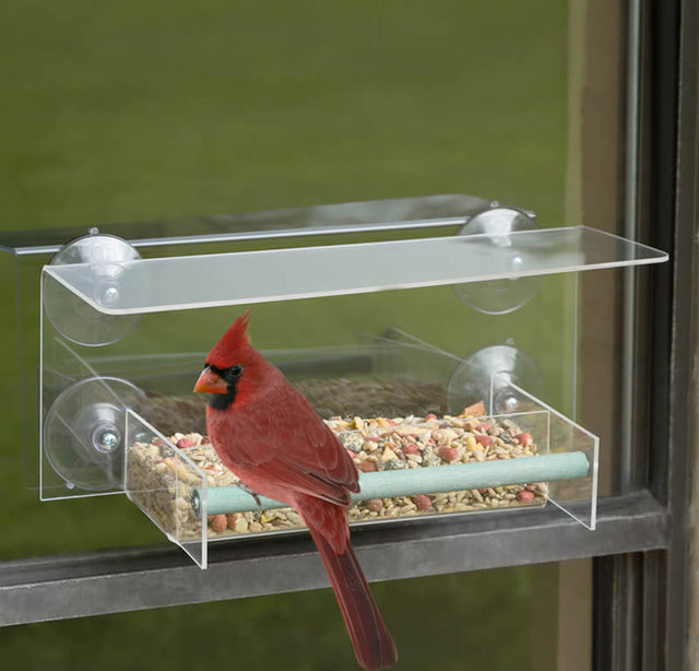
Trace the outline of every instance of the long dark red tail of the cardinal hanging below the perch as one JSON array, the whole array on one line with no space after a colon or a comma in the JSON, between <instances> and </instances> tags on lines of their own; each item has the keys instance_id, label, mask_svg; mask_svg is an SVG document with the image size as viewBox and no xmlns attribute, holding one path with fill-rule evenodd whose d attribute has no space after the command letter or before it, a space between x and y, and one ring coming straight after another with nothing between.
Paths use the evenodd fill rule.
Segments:
<instances>
[{"instance_id":1,"label":"long dark red tail of the cardinal hanging below the perch","mask_svg":"<svg viewBox=\"0 0 699 671\"><path fill-rule=\"evenodd\" d=\"M395 644L371 597L352 545L347 543L347 550L336 554L321 532L312 528L310 532L335 590L357 661L367 671L392 667L398 660Z\"/></svg>"}]
</instances>

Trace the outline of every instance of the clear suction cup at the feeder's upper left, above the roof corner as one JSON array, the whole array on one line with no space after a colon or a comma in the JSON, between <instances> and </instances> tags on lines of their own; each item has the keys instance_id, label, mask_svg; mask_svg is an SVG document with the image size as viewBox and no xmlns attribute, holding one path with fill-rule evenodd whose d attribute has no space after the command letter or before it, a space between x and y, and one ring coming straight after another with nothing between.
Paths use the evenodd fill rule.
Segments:
<instances>
[{"instance_id":1,"label":"clear suction cup at the feeder's upper left, above the roof corner","mask_svg":"<svg viewBox=\"0 0 699 671\"><path fill-rule=\"evenodd\" d=\"M51 259L51 266L85 263L94 275L94 298L99 305L119 298L122 263L140 259L141 255L127 242L114 235L90 234L66 245ZM55 280L44 286L44 306L54 328L72 342L99 346L117 342L138 323L139 315L104 315L75 296Z\"/></svg>"}]
</instances>

